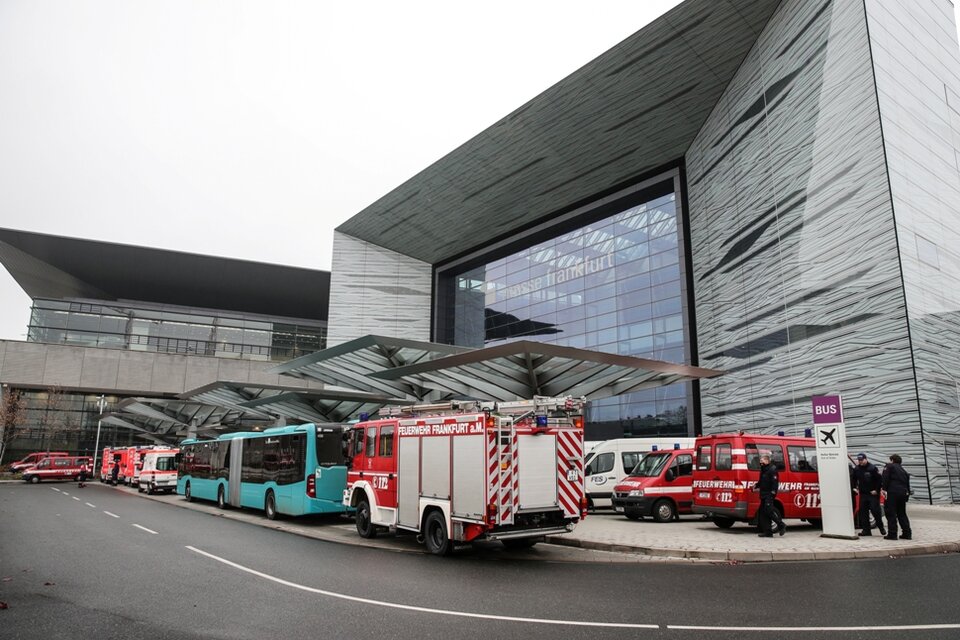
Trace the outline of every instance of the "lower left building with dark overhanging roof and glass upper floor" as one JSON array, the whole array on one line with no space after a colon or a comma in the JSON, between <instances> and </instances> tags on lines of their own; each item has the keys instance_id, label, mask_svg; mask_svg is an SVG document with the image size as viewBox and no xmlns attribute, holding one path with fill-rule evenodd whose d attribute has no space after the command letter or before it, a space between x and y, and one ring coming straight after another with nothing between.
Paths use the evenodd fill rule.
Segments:
<instances>
[{"instance_id":1,"label":"lower left building with dark overhanging roof and glass upper floor","mask_svg":"<svg viewBox=\"0 0 960 640\"><path fill-rule=\"evenodd\" d=\"M326 271L9 229L0 263L33 300L27 340L0 341L4 406L16 395L23 408L4 416L4 463L92 455L98 435L100 447L172 444L269 426L275 416L185 394L223 381L289 390L269 370L325 346Z\"/></svg>"}]
</instances>

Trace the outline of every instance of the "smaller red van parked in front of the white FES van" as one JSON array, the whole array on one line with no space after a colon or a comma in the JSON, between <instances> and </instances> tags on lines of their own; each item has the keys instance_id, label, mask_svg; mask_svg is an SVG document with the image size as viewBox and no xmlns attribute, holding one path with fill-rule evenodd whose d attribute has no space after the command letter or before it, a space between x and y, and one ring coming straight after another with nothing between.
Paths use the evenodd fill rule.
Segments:
<instances>
[{"instance_id":1,"label":"smaller red van parked in front of the white FES van","mask_svg":"<svg viewBox=\"0 0 960 640\"><path fill-rule=\"evenodd\" d=\"M693 449L651 451L613 488L613 509L630 520L677 519L693 507Z\"/></svg>"}]
</instances>

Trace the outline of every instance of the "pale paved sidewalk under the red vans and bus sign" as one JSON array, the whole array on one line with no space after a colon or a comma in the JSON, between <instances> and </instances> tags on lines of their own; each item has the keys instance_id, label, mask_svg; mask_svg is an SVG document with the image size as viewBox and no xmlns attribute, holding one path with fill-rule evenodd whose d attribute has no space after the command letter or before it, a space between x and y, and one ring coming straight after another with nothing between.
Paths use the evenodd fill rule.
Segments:
<instances>
[{"instance_id":1,"label":"pale paved sidewalk under the red vans and bus sign","mask_svg":"<svg viewBox=\"0 0 960 640\"><path fill-rule=\"evenodd\" d=\"M913 540L823 538L800 520L787 520L784 536L760 538L755 527L737 523L721 529L698 516L679 522L634 522L612 513L590 514L573 533L552 536L552 544L584 549L712 561L770 562L883 558L960 552L960 505L915 505L907 509Z\"/></svg>"}]
</instances>

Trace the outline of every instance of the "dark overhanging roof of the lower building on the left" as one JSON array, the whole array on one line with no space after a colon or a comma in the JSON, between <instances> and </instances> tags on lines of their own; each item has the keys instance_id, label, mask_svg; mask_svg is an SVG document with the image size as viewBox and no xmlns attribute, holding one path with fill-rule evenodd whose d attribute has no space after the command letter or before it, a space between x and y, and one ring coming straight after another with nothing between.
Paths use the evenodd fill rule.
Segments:
<instances>
[{"instance_id":1,"label":"dark overhanging roof of the lower building on the left","mask_svg":"<svg viewBox=\"0 0 960 640\"><path fill-rule=\"evenodd\" d=\"M0 228L0 263L31 298L135 300L327 320L330 272Z\"/></svg>"}]
</instances>

